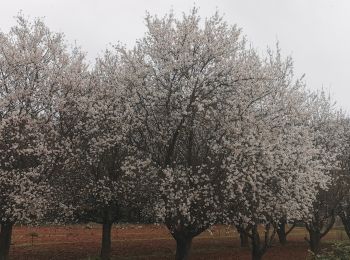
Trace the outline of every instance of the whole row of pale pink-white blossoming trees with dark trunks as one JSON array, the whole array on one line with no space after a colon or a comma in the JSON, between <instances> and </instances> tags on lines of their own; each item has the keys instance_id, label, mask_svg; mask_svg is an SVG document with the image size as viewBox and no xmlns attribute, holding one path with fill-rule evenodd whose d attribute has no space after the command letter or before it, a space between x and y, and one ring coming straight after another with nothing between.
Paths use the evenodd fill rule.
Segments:
<instances>
[{"instance_id":1,"label":"whole row of pale pink-white blossoming trees with dark trunks","mask_svg":"<svg viewBox=\"0 0 350 260\"><path fill-rule=\"evenodd\" d=\"M350 231L347 115L217 13L145 21L93 65L40 19L0 33L0 259L15 223L72 221L103 224L109 259L133 211L168 227L179 260L214 224L254 260L286 223L304 222L316 253L336 215Z\"/></svg>"}]
</instances>

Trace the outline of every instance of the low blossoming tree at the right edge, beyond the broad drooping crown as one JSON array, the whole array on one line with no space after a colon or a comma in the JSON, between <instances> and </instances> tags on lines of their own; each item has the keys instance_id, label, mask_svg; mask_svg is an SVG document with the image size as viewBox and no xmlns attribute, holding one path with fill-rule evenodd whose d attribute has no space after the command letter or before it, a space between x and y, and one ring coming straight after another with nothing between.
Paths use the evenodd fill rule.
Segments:
<instances>
[{"instance_id":1,"label":"low blossoming tree at the right edge, beyond the broad drooping crown","mask_svg":"<svg viewBox=\"0 0 350 260\"><path fill-rule=\"evenodd\" d=\"M305 219L309 232L310 249L320 251L320 241L332 228L337 210L346 193L346 176L341 167L342 156L347 150L347 127L345 115L338 111L332 100L322 91L314 94L309 110L312 115L309 128L314 133L313 143L317 149L314 159L319 161L323 174L329 176L328 188L320 190L310 210L310 217Z\"/></svg>"}]
</instances>

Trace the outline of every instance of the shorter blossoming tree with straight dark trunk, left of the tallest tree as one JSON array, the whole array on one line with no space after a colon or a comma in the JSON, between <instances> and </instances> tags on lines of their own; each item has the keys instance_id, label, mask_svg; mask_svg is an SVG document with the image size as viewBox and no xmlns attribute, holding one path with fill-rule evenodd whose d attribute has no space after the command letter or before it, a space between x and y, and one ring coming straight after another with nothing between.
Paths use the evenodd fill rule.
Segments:
<instances>
[{"instance_id":1,"label":"shorter blossoming tree with straight dark trunk, left of the tallest tree","mask_svg":"<svg viewBox=\"0 0 350 260\"><path fill-rule=\"evenodd\" d=\"M102 259L110 258L112 224L120 219L121 208L141 203L137 194L143 175L124 172L131 162L138 170L147 165L147 160L135 161L137 151L129 145L134 102L119 82L120 71L118 55L106 51L87 79L60 97L59 132L69 154L62 181L74 193L65 196L65 204L78 220L102 224Z\"/></svg>"}]
</instances>

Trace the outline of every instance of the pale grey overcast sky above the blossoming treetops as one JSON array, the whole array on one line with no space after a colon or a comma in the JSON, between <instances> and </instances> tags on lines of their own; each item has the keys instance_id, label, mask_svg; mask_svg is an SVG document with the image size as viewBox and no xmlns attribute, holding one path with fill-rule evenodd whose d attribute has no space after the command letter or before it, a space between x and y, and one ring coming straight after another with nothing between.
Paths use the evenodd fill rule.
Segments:
<instances>
[{"instance_id":1,"label":"pale grey overcast sky above the blossoming treetops","mask_svg":"<svg viewBox=\"0 0 350 260\"><path fill-rule=\"evenodd\" d=\"M45 17L52 30L64 32L94 60L108 44L132 46L142 37L146 11L181 15L194 5L202 17L218 10L261 52L278 40L293 57L296 75L305 73L309 88L323 87L350 112L348 0L7 0L0 5L0 30L7 32L20 10Z\"/></svg>"}]
</instances>

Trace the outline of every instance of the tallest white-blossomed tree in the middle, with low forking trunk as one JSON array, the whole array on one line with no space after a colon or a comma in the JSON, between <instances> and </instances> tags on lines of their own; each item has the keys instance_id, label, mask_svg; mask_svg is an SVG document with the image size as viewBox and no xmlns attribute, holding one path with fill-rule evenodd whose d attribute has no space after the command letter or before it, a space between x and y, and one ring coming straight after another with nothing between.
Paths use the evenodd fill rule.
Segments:
<instances>
[{"instance_id":1,"label":"tallest white-blossomed tree in the middle, with low forking trunk","mask_svg":"<svg viewBox=\"0 0 350 260\"><path fill-rule=\"evenodd\" d=\"M155 206L187 259L192 238L215 223L220 208L220 163L212 140L228 93L240 81L244 40L216 14L203 26L194 9L182 19L147 16L136 47L121 48L124 84L138 98L135 146L158 174Z\"/></svg>"}]
</instances>

